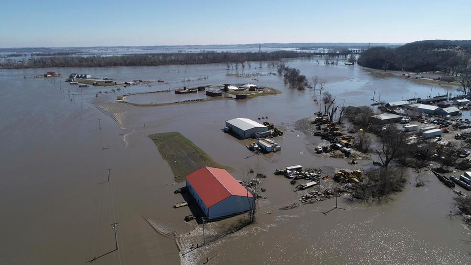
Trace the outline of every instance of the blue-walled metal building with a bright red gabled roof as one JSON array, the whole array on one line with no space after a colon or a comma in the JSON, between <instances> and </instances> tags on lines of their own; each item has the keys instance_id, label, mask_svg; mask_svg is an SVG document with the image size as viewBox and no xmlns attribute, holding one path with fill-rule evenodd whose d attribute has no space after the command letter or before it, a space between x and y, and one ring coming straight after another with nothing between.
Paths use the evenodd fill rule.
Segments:
<instances>
[{"instance_id":1,"label":"blue-walled metal building with a bright red gabled roof","mask_svg":"<svg viewBox=\"0 0 471 265\"><path fill-rule=\"evenodd\" d=\"M203 167L186 176L186 188L209 219L252 209L252 194L224 169Z\"/></svg>"}]
</instances>

